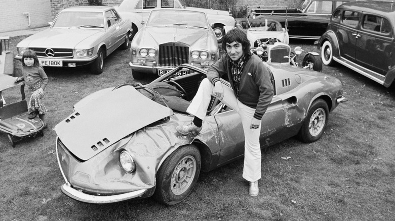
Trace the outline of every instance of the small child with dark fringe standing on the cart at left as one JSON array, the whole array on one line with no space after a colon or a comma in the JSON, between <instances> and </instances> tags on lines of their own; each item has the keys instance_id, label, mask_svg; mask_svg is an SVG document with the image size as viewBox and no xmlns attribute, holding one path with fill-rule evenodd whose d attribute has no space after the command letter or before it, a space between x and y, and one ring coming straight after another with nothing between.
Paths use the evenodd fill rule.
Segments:
<instances>
[{"instance_id":1,"label":"small child with dark fringe standing on the cart at left","mask_svg":"<svg viewBox=\"0 0 395 221\"><path fill-rule=\"evenodd\" d=\"M44 97L44 89L48 84L48 77L44 69L39 65L38 58L32 50L26 50L23 53L22 77L15 78L15 81L21 80L26 82L29 92L32 93L27 106L28 118L33 119L38 114L38 117L44 123L44 128L47 128L45 120L47 111L41 99Z\"/></svg>"}]
</instances>

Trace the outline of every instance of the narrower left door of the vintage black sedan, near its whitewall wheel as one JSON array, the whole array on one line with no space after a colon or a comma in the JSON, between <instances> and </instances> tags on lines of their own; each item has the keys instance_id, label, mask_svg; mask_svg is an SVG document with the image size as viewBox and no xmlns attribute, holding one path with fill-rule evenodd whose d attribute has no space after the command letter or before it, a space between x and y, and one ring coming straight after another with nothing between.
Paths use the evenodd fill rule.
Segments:
<instances>
[{"instance_id":1,"label":"narrower left door of the vintage black sedan, near its whitewall wheel","mask_svg":"<svg viewBox=\"0 0 395 221\"><path fill-rule=\"evenodd\" d=\"M344 10L340 20L340 26L336 32L339 41L340 57L351 62L355 61L355 44L358 39L358 25L360 12Z\"/></svg>"}]
</instances>

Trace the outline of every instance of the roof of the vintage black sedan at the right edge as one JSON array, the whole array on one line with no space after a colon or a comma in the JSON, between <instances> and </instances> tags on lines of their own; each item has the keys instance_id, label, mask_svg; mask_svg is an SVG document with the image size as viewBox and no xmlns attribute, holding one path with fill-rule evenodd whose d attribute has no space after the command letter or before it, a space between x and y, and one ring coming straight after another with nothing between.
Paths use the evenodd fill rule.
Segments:
<instances>
[{"instance_id":1,"label":"roof of the vintage black sedan at the right edge","mask_svg":"<svg viewBox=\"0 0 395 221\"><path fill-rule=\"evenodd\" d=\"M344 3L343 5L339 6L338 9L349 9L378 14L393 14L395 12L395 3L380 1L358 1Z\"/></svg>"}]
</instances>

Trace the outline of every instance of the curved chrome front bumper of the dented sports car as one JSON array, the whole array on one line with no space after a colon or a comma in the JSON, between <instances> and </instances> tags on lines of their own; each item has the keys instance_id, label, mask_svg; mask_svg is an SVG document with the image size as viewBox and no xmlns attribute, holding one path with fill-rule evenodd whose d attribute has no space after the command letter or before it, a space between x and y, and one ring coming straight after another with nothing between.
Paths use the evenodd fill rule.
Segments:
<instances>
[{"instance_id":1,"label":"curved chrome front bumper of the dented sports car","mask_svg":"<svg viewBox=\"0 0 395 221\"><path fill-rule=\"evenodd\" d=\"M61 190L65 195L77 201L87 202L87 203L97 203L97 204L120 202L128 199L141 197L147 191L147 189L141 189L130 193L123 193L118 195L96 196L96 195L86 194L76 189L73 189L67 184L63 184Z\"/></svg>"}]
</instances>

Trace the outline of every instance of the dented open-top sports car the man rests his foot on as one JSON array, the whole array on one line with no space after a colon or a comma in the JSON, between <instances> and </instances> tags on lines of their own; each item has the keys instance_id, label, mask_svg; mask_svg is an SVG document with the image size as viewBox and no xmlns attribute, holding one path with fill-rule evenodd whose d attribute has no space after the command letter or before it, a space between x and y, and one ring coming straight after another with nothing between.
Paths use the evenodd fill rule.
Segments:
<instances>
[{"instance_id":1,"label":"dented open-top sports car the man rests his foot on","mask_svg":"<svg viewBox=\"0 0 395 221\"><path fill-rule=\"evenodd\" d=\"M329 113L347 100L341 82L312 70L265 64L275 95L262 118L262 148L293 136L320 139ZM190 74L173 78L182 69ZM174 205L190 194L201 171L243 157L238 114L215 97L199 135L176 132L177 125L192 120L186 108L205 77L205 70L184 64L147 85L119 85L77 102L55 126L61 191L88 203L153 196Z\"/></svg>"}]
</instances>

